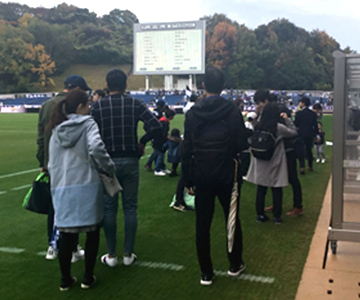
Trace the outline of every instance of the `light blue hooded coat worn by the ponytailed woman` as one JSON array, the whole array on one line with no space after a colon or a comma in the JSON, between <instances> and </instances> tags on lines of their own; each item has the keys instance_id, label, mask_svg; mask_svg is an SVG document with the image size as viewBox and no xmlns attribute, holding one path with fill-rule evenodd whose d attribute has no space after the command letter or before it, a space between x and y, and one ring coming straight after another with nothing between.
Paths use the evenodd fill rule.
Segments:
<instances>
[{"instance_id":1,"label":"light blue hooded coat worn by the ponytailed woman","mask_svg":"<svg viewBox=\"0 0 360 300\"><path fill-rule=\"evenodd\" d=\"M115 172L115 165L90 116L68 115L53 130L49 145L49 173L55 225L82 227L104 217L103 187L97 170Z\"/></svg>"}]
</instances>

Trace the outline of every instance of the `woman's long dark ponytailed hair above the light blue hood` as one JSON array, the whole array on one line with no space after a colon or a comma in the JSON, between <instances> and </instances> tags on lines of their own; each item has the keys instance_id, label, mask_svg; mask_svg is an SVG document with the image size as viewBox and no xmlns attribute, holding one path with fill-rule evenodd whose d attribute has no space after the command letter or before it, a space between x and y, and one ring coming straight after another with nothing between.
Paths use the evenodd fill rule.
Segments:
<instances>
[{"instance_id":1,"label":"woman's long dark ponytailed hair above the light blue hood","mask_svg":"<svg viewBox=\"0 0 360 300\"><path fill-rule=\"evenodd\" d=\"M86 105L88 101L89 96L81 90L68 93L65 99L55 105L46 130L51 131L57 125L68 120L67 115L75 114L79 104Z\"/></svg>"}]
</instances>

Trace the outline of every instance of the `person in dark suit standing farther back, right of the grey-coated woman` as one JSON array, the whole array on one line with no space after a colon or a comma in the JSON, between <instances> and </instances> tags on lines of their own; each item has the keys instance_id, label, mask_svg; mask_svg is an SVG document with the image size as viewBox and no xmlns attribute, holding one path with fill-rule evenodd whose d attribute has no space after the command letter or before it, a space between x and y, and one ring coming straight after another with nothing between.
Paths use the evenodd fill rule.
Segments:
<instances>
[{"instance_id":1,"label":"person in dark suit standing farther back, right of the grey-coated woman","mask_svg":"<svg viewBox=\"0 0 360 300\"><path fill-rule=\"evenodd\" d=\"M305 156L308 161L308 170L313 170L312 147L315 137L319 137L317 115L309 109L310 99L302 97L299 101L300 111L296 112L294 124L298 128L299 135L305 144ZM300 174L305 174L305 160L300 159Z\"/></svg>"}]
</instances>

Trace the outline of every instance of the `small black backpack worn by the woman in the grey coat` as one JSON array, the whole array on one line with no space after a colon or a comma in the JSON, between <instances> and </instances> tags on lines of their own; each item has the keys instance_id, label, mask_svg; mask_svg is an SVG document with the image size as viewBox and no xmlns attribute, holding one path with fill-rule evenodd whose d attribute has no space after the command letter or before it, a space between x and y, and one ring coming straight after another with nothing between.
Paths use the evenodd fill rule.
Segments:
<instances>
[{"instance_id":1,"label":"small black backpack worn by the woman in the grey coat","mask_svg":"<svg viewBox=\"0 0 360 300\"><path fill-rule=\"evenodd\" d=\"M249 138L250 151L258 159L270 160L276 147L276 138L269 131L255 130Z\"/></svg>"}]
</instances>

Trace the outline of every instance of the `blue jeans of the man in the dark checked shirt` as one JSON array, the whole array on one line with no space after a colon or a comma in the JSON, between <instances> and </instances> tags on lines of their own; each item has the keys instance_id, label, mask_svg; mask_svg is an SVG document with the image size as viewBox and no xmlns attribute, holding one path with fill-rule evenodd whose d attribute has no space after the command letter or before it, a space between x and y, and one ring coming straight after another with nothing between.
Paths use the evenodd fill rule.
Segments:
<instances>
[{"instance_id":1,"label":"blue jeans of the man in the dark checked shirt","mask_svg":"<svg viewBox=\"0 0 360 300\"><path fill-rule=\"evenodd\" d=\"M124 254L131 254L134 250L135 236L138 224L138 187L139 187L139 159L136 157L113 158L116 166L116 177L123 190L121 191L124 213ZM104 195L105 216L104 232L108 253L116 256L116 218L119 206L119 195L114 197Z\"/></svg>"}]
</instances>

